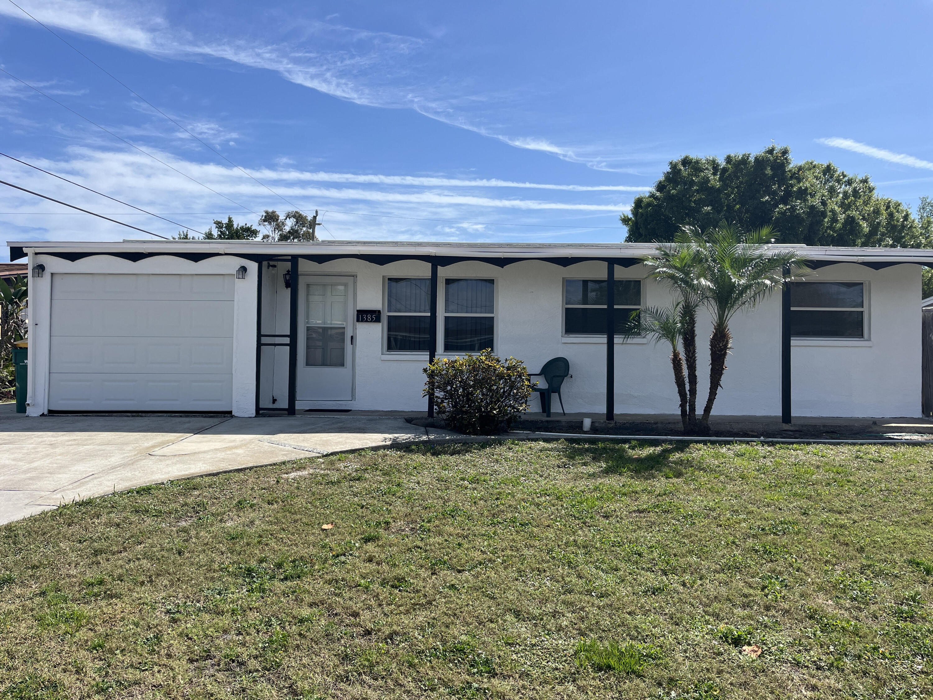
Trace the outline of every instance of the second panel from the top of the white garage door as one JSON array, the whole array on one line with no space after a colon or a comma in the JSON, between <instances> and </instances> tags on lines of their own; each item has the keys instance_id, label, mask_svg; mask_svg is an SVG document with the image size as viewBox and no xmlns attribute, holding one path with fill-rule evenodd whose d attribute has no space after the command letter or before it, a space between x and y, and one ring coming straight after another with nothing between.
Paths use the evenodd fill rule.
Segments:
<instances>
[{"instance_id":1,"label":"second panel from the top of the white garage door","mask_svg":"<svg viewBox=\"0 0 933 700\"><path fill-rule=\"evenodd\" d=\"M67 336L233 336L233 301L52 301L52 334Z\"/></svg>"}]
</instances>

